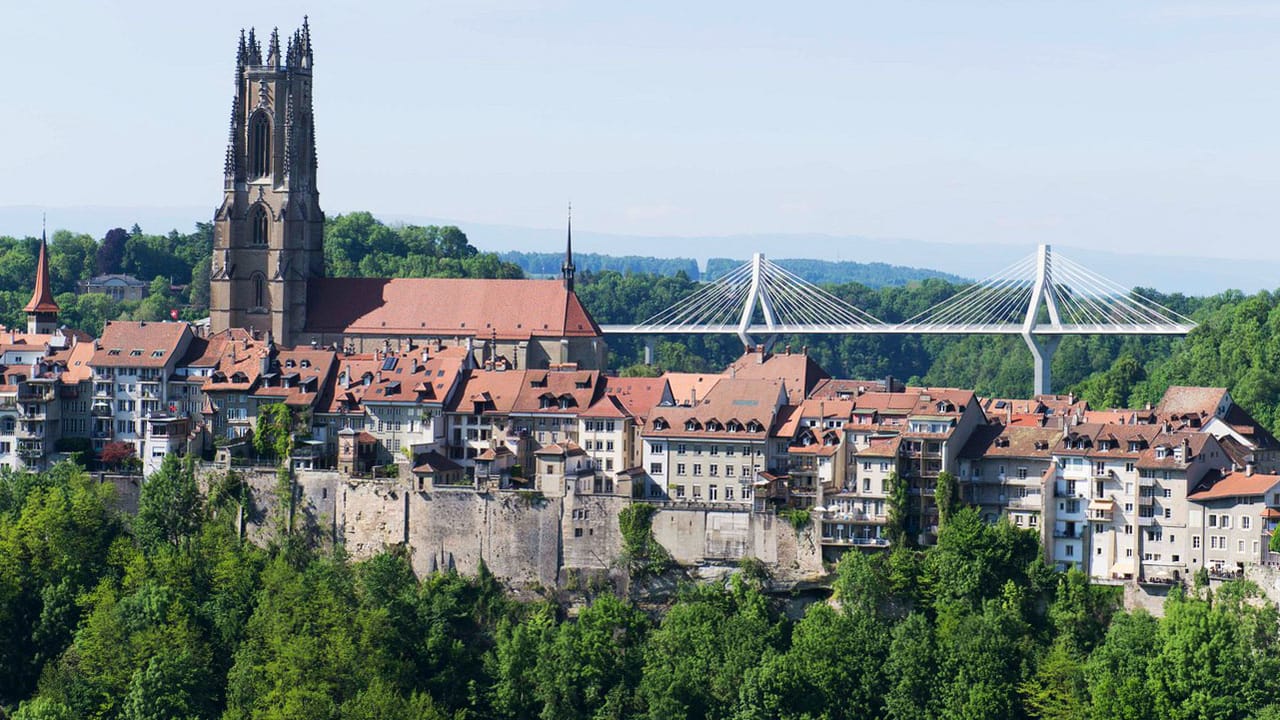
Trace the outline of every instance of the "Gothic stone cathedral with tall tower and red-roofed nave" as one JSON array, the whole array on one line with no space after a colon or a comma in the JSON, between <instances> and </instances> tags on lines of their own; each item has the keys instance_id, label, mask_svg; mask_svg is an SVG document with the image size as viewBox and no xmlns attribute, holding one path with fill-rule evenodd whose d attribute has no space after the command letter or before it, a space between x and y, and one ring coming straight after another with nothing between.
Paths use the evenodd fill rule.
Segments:
<instances>
[{"instance_id":1,"label":"Gothic stone cathedral with tall tower and red-roofed nave","mask_svg":"<svg viewBox=\"0 0 1280 720\"><path fill-rule=\"evenodd\" d=\"M452 345L480 364L603 369L600 328L573 291L571 238L559 279L330 278L316 187L311 29L236 53L236 95L214 214L210 332L352 352Z\"/></svg>"}]
</instances>

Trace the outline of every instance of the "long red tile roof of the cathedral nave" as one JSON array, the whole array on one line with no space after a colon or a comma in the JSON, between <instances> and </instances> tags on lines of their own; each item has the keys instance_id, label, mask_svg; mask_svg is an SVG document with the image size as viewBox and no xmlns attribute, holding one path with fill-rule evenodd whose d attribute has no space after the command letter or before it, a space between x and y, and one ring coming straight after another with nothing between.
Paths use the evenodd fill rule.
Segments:
<instances>
[{"instance_id":1,"label":"long red tile roof of the cathedral nave","mask_svg":"<svg viewBox=\"0 0 1280 720\"><path fill-rule=\"evenodd\" d=\"M600 328L559 281L321 278L307 283L316 333L596 337Z\"/></svg>"}]
</instances>

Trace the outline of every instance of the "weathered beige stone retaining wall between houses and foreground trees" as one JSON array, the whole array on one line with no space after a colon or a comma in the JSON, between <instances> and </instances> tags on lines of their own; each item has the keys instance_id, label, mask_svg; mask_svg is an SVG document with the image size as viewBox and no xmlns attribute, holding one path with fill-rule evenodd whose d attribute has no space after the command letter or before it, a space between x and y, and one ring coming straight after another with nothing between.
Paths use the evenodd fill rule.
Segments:
<instances>
[{"instance_id":1,"label":"weathered beige stone retaining wall between houses and foreground trees","mask_svg":"<svg viewBox=\"0 0 1280 720\"><path fill-rule=\"evenodd\" d=\"M420 491L410 480L298 471L291 510L282 512L274 470L244 470L242 477L251 495L242 521L255 542L270 538L278 519L292 511L296 529L323 544L342 543L357 560L402 544L419 574L471 574L484 561L513 587L554 588L567 574L616 568L622 552L618 512L632 502L613 495ZM814 528L796 532L772 512L663 506L653 516L653 533L690 568L755 557L780 580L823 574Z\"/></svg>"}]
</instances>

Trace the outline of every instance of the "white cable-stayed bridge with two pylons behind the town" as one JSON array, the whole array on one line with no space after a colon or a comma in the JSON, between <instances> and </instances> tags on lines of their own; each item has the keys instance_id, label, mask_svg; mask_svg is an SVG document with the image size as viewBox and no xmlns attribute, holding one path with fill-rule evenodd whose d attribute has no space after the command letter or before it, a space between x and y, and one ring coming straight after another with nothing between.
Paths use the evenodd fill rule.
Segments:
<instances>
[{"instance_id":1,"label":"white cable-stayed bridge with two pylons behind the town","mask_svg":"<svg viewBox=\"0 0 1280 720\"><path fill-rule=\"evenodd\" d=\"M605 334L737 334L748 347L782 334L1016 334L1051 392L1050 361L1071 334L1187 334L1196 323L1048 245L901 323L884 323L755 254L749 263L636 325Z\"/></svg>"}]
</instances>

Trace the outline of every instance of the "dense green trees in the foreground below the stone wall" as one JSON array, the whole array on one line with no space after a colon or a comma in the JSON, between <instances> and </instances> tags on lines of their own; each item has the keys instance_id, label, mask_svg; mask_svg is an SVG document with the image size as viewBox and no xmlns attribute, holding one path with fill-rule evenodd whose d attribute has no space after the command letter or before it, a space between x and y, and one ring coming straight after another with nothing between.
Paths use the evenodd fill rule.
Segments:
<instances>
[{"instance_id":1,"label":"dense green trees in the foreground below the stone wall","mask_svg":"<svg viewBox=\"0 0 1280 720\"><path fill-rule=\"evenodd\" d=\"M1242 582L1174 588L1165 618L1041 561L973 510L938 543L851 552L835 603L788 620L758 565L636 605L415 578L317 552L275 518L234 530L175 457L136 518L70 464L0 474L0 708L18 720L1276 717L1280 614ZM641 527L643 530L643 527ZM646 532L646 530L645 530ZM634 587L653 564L631 564ZM668 571L666 578L677 575ZM653 600L653 598L650 598Z\"/></svg>"}]
</instances>

